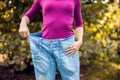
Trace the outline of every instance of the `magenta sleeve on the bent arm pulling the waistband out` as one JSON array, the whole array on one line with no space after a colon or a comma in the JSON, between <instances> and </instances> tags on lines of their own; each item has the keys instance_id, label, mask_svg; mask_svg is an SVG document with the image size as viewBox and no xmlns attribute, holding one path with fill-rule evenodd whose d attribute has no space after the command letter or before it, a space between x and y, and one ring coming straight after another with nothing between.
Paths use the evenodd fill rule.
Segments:
<instances>
[{"instance_id":1,"label":"magenta sleeve on the bent arm pulling the waistband out","mask_svg":"<svg viewBox=\"0 0 120 80\"><path fill-rule=\"evenodd\" d=\"M34 3L32 4L31 8L24 14L24 16L27 16L30 19L30 21L32 21L40 10L41 6L39 0L34 0Z\"/></svg>"}]
</instances>

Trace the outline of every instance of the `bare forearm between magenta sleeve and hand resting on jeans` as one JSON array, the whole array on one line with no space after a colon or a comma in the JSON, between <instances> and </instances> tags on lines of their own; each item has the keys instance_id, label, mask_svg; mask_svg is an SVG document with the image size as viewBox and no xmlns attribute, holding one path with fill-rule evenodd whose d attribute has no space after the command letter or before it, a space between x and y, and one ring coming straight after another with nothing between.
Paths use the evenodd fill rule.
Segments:
<instances>
[{"instance_id":1,"label":"bare forearm between magenta sleeve and hand resting on jeans","mask_svg":"<svg viewBox=\"0 0 120 80\"><path fill-rule=\"evenodd\" d=\"M75 35L76 35L77 41L80 43L82 43L82 40L83 40L83 30L84 30L83 27L78 27L75 29Z\"/></svg>"}]
</instances>

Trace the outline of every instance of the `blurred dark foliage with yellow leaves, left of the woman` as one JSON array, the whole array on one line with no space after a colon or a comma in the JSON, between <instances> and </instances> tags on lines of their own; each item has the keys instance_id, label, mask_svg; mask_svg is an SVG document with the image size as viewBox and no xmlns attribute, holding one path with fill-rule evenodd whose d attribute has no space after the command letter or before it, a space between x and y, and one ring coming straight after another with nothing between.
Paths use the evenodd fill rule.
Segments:
<instances>
[{"instance_id":1,"label":"blurred dark foliage with yellow leaves, left of the woman","mask_svg":"<svg viewBox=\"0 0 120 80\"><path fill-rule=\"evenodd\" d=\"M13 65L15 71L23 71L31 64L28 39L18 34L21 17L31 6L31 1L0 1L0 65ZM41 30L39 22L30 24L30 31ZM32 64L31 64L32 65Z\"/></svg>"}]
</instances>

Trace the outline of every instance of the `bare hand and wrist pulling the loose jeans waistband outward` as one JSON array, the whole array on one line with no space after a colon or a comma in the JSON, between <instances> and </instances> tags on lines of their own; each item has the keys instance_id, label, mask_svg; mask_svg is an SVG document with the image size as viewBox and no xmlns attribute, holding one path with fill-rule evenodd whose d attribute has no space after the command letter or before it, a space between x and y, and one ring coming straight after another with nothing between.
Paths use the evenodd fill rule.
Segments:
<instances>
[{"instance_id":1,"label":"bare hand and wrist pulling the loose jeans waistband outward","mask_svg":"<svg viewBox=\"0 0 120 80\"><path fill-rule=\"evenodd\" d=\"M23 16L22 20L21 20L21 23L20 23L20 28L19 28L19 34L22 36L22 37L28 37L30 32L29 32L29 29L27 27L27 24L30 23L30 20L27 16Z\"/></svg>"}]
</instances>

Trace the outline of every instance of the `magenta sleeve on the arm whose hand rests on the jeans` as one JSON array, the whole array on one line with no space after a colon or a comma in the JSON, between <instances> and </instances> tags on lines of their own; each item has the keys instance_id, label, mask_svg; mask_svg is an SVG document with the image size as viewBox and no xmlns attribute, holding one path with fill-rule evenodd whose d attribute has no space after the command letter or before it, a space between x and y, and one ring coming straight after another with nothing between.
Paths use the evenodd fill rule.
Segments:
<instances>
[{"instance_id":1,"label":"magenta sleeve on the arm whose hand rests on the jeans","mask_svg":"<svg viewBox=\"0 0 120 80\"><path fill-rule=\"evenodd\" d=\"M83 27L80 0L76 0L75 11L74 11L74 28L77 28L77 27Z\"/></svg>"}]
</instances>

